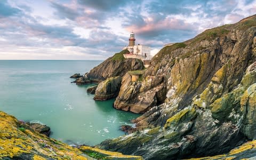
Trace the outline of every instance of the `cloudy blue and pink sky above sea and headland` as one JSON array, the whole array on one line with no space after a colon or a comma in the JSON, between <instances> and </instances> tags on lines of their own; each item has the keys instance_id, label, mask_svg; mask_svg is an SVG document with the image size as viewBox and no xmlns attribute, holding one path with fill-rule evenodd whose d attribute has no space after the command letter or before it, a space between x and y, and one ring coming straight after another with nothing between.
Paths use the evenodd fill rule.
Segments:
<instances>
[{"instance_id":1,"label":"cloudy blue and pink sky above sea and headland","mask_svg":"<svg viewBox=\"0 0 256 160\"><path fill-rule=\"evenodd\" d=\"M0 0L0 60L105 60L129 43L183 42L256 14L256 0Z\"/></svg>"}]
</instances>

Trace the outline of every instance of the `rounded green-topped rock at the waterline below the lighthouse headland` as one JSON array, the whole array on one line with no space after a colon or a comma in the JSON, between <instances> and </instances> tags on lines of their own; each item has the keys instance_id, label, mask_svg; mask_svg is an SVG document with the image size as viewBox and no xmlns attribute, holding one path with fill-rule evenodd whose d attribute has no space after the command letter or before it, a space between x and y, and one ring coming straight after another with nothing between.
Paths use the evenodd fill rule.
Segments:
<instances>
[{"instance_id":1,"label":"rounded green-topped rock at the waterline below the lighthouse headland","mask_svg":"<svg viewBox=\"0 0 256 160\"><path fill-rule=\"evenodd\" d=\"M120 90L121 77L111 77L101 82L95 90L94 100L108 100L115 98Z\"/></svg>"}]
</instances>

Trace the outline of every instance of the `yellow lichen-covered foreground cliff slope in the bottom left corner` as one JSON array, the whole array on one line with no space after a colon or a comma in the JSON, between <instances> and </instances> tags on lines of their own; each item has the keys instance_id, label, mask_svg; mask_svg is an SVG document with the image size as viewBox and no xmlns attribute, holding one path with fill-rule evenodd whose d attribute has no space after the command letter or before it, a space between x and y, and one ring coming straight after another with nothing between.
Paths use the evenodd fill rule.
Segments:
<instances>
[{"instance_id":1,"label":"yellow lichen-covered foreground cliff slope in the bottom left corner","mask_svg":"<svg viewBox=\"0 0 256 160\"><path fill-rule=\"evenodd\" d=\"M15 117L0 111L0 159L133 159L140 156L123 155L89 146L78 148L46 137Z\"/></svg>"}]
</instances>

